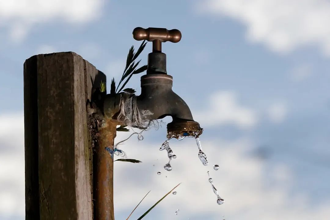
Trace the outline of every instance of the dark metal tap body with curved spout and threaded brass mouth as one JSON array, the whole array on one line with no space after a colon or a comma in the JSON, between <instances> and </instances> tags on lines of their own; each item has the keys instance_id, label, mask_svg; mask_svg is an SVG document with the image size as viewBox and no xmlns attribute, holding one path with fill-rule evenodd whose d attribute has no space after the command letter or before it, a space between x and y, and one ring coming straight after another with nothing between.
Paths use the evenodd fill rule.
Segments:
<instances>
[{"instance_id":1,"label":"dark metal tap body with curved spout and threaded brass mouth","mask_svg":"<svg viewBox=\"0 0 330 220\"><path fill-rule=\"evenodd\" d=\"M173 78L166 74L147 74L141 77L141 95L136 105L143 120L172 116L167 125L167 138L198 137L203 129L194 121L188 105L172 91Z\"/></svg>"}]
</instances>

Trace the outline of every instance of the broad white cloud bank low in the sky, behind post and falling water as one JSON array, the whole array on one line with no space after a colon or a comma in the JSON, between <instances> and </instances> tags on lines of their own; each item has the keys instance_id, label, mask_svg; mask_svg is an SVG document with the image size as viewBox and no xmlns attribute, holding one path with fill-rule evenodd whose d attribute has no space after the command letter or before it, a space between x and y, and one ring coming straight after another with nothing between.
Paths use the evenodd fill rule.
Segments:
<instances>
[{"instance_id":1,"label":"broad white cloud bank low in the sky, behind post and falling water","mask_svg":"<svg viewBox=\"0 0 330 220\"><path fill-rule=\"evenodd\" d=\"M116 215L127 212L128 216L142 197L152 190L131 217L136 219L179 182L182 185L176 189L177 194L169 195L152 210L153 213L159 213L158 219L174 218L178 208L178 217L181 219L201 215L209 219L222 219L224 215L224 219L309 220L327 219L330 215L329 201L313 206L305 192L292 193L290 187L293 186L290 184L297 180L294 181L289 164L272 164L265 169L266 164L248 157L246 151L255 145L249 139L225 141L216 137L212 140L202 138L209 166L203 166L199 161L198 148L193 139L171 140L170 145L177 158L171 162L173 170L167 172L163 168L168 161L167 154L158 150L162 140L150 142L152 132L145 133L144 141L137 141L136 136L133 136L119 146L129 158L139 159L143 163L115 162ZM165 139L166 126L157 132L163 133ZM21 112L0 115L0 137L20 146L19 150L0 154L0 216L19 215L24 218L24 147L13 134L23 139ZM129 135L127 132L118 132L115 142ZM211 167L213 164L218 164L220 169L214 171ZM158 171L162 174L157 175ZM210 171L215 187L225 199L223 205L216 204L206 171ZM319 172L324 172L326 176L327 170ZM272 185L267 186L265 182L269 181Z\"/></svg>"}]
</instances>

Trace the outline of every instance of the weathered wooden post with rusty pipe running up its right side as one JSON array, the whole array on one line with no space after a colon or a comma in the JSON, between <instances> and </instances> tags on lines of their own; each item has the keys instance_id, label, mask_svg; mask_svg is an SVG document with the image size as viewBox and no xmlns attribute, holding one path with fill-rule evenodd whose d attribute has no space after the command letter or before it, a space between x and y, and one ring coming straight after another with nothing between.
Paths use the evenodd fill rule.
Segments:
<instances>
[{"instance_id":1,"label":"weathered wooden post with rusty pipe running up its right side","mask_svg":"<svg viewBox=\"0 0 330 220\"><path fill-rule=\"evenodd\" d=\"M105 75L74 52L40 54L25 61L27 220L93 218L92 201L102 192L94 190L93 197L93 157L86 102L91 100L92 83L100 85L101 80L106 81ZM114 136L103 138L110 138L108 142L113 145ZM95 174L107 176L109 182L102 184L110 191L104 206L107 213L103 215L96 210L94 219L106 216L104 219L113 220L113 160L110 155L94 158L100 160L94 164L102 163Z\"/></svg>"}]
</instances>

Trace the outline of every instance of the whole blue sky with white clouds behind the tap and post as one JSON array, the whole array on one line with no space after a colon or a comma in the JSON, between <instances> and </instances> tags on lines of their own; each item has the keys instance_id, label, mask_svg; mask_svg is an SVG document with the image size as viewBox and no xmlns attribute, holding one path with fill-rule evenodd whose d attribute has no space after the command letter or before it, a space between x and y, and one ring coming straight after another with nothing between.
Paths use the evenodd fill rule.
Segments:
<instances>
[{"instance_id":1,"label":"whole blue sky with white clouds behind the tap and post","mask_svg":"<svg viewBox=\"0 0 330 220\"><path fill-rule=\"evenodd\" d=\"M140 45L131 35L138 26L181 30L163 52L173 90L205 129L210 165L184 139L170 142L177 159L165 171L166 124L132 137L120 148L143 163L115 162L116 219L151 190L136 219L179 182L146 219L328 219L329 20L326 0L0 0L0 219L24 219L25 59L74 51L118 81L128 48ZM142 63L149 51L150 43ZM139 92L139 81L127 87Z\"/></svg>"}]
</instances>

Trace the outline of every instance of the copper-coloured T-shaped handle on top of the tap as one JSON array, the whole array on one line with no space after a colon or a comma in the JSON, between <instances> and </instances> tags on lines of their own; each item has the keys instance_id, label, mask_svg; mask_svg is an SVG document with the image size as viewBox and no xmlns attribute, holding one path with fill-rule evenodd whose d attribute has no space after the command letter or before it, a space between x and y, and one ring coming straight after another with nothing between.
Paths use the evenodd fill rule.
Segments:
<instances>
[{"instance_id":1,"label":"copper-coloured T-shaped handle on top of the tap","mask_svg":"<svg viewBox=\"0 0 330 220\"><path fill-rule=\"evenodd\" d=\"M133 30L133 38L137 41L152 41L152 52L162 51L162 42L170 41L177 43L181 40L181 32L177 29L167 30L166 28L149 27L144 29L136 27Z\"/></svg>"}]
</instances>

